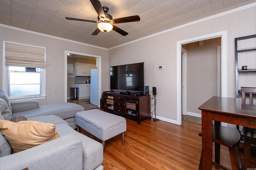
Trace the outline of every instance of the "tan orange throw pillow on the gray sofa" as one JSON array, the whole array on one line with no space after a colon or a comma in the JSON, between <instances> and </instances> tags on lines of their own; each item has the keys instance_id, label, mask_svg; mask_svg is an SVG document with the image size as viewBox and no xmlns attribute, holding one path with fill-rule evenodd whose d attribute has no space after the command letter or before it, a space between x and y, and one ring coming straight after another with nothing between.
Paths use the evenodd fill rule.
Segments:
<instances>
[{"instance_id":1,"label":"tan orange throw pillow on the gray sofa","mask_svg":"<svg viewBox=\"0 0 256 170\"><path fill-rule=\"evenodd\" d=\"M32 148L59 137L55 125L39 121L19 121L17 123L0 120L2 135L12 147L12 153Z\"/></svg>"}]
</instances>

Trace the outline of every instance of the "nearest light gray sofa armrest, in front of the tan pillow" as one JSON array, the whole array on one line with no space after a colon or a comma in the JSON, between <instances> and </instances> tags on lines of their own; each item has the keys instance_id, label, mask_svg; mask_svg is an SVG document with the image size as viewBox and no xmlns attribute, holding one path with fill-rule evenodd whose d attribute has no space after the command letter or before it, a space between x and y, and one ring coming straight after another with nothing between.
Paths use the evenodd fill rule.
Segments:
<instances>
[{"instance_id":1,"label":"nearest light gray sofa armrest, in front of the tan pillow","mask_svg":"<svg viewBox=\"0 0 256 170\"><path fill-rule=\"evenodd\" d=\"M66 135L21 152L0 158L0 170L74 169L83 168L82 142Z\"/></svg>"}]
</instances>

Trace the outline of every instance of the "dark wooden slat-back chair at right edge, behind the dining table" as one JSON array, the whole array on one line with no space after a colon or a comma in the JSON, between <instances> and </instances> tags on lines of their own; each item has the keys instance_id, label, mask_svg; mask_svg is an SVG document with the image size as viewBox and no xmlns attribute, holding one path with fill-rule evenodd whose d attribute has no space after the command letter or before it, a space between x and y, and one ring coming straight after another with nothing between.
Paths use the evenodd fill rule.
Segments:
<instances>
[{"instance_id":1,"label":"dark wooden slat-back chair at right edge, behind the dining table","mask_svg":"<svg viewBox=\"0 0 256 170\"><path fill-rule=\"evenodd\" d=\"M249 104L252 105L252 95L256 94L256 88L241 87L241 91L244 104L246 93L249 93ZM251 145L256 145L256 129L242 127L241 135L244 137L244 167L247 169L251 166Z\"/></svg>"}]
</instances>

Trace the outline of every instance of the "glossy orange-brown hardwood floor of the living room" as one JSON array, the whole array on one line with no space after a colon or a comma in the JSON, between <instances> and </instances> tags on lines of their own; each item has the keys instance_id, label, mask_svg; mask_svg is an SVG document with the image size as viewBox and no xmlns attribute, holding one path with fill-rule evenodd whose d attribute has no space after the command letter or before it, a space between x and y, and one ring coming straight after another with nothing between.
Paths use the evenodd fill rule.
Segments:
<instances>
[{"instance_id":1,"label":"glossy orange-brown hardwood floor of the living room","mask_svg":"<svg viewBox=\"0 0 256 170\"><path fill-rule=\"evenodd\" d=\"M141 125L130 119L126 122L124 145L121 134L105 143L104 170L198 170L202 149L202 138L198 135L200 124L182 121L179 126L152 119L142 121ZM82 133L101 142L84 130ZM220 156L220 164L231 168L226 147L221 146ZM244 164L243 152L241 158ZM255 155L252 159L252 167L256 167ZM217 170L214 166L212 169Z\"/></svg>"}]
</instances>

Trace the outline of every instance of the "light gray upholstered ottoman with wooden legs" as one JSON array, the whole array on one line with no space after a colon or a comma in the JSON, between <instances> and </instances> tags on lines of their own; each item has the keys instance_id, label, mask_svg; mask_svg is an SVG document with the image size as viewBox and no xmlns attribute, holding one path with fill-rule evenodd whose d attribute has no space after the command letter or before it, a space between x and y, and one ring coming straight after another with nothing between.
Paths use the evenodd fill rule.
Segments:
<instances>
[{"instance_id":1,"label":"light gray upholstered ottoman with wooden legs","mask_svg":"<svg viewBox=\"0 0 256 170\"><path fill-rule=\"evenodd\" d=\"M122 144L124 145L124 132L126 131L126 120L124 117L99 109L91 109L76 113L76 125L78 126L78 132L82 128L102 140L103 148L106 140L121 133Z\"/></svg>"}]
</instances>

